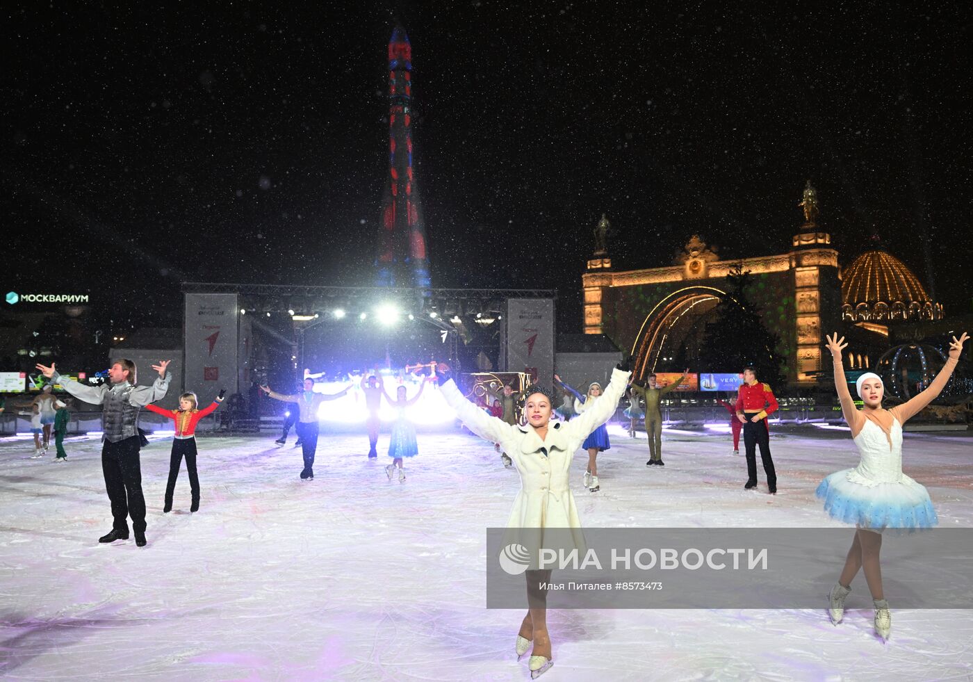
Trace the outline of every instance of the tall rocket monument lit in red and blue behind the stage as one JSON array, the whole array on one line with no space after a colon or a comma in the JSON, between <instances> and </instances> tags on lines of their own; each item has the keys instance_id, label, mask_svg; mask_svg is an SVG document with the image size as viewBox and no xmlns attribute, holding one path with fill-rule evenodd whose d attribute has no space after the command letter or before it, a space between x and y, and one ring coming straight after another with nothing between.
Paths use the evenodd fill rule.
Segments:
<instances>
[{"instance_id":1,"label":"tall rocket monument lit in red and blue behind the stage","mask_svg":"<svg viewBox=\"0 0 973 682\"><path fill-rule=\"evenodd\" d=\"M388 42L388 177L381 199L376 268L379 286L422 292L430 282L413 163L412 53L409 36L397 26Z\"/></svg>"}]
</instances>

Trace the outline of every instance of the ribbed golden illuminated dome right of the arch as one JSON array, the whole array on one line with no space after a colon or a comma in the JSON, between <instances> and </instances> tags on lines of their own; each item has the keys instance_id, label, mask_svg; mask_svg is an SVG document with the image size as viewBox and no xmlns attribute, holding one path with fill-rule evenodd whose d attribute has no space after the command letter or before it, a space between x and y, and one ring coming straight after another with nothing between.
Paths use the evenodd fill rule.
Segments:
<instances>
[{"instance_id":1,"label":"ribbed golden illuminated dome right of the arch","mask_svg":"<svg viewBox=\"0 0 973 682\"><path fill-rule=\"evenodd\" d=\"M942 305L929 298L912 270L885 251L866 251L845 269L842 302L847 319L940 319L943 316Z\"/></svg>"}]
</instances>

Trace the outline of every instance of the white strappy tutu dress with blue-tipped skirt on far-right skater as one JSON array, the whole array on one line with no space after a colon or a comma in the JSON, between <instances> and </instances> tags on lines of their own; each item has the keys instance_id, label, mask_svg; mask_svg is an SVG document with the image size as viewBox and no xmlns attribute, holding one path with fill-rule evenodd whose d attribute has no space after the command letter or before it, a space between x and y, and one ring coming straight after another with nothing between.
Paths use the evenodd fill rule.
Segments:
<instances>
[{"instance_id":1,"label":"white strappy tutu dress with blue-tipped skirt on far-right skater","mask_svg":"<svg viewBox=\"0 0 973 682\"><path fill-rule=\"evenodd\" d=\"M905 531L939 522L925 486L902 473L902 426L897 420L888 438L867 421L854 443L861 453L858 466L831 474L814 493L832 519L872 530Z\"/></svg>"}]
</instances>

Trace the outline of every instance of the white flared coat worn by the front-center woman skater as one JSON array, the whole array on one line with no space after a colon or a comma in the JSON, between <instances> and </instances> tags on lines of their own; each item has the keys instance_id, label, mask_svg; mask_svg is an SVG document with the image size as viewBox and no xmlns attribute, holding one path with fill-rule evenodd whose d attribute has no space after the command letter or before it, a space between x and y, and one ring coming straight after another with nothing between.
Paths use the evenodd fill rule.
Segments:
<instances>
[{"instance_id":1,"label":"white flared coat worn by the front-center woman skater","mask_svg":"<svg viewBox=\"0 0 973 682\"><path fill-rule=\"evenodd\" d=\"M568 422L552 422L541 439L530 424L511 425L466 400L451 380L443 397L466 426L510 455L521 474L508 528L580 528L578 510L568 485L571 459L588 435L608 421L618 407L631 373L615 370L605 392L589 401L587 410ZM584 540L580 538L579 545Z\"/></svg>"}]
</instances>

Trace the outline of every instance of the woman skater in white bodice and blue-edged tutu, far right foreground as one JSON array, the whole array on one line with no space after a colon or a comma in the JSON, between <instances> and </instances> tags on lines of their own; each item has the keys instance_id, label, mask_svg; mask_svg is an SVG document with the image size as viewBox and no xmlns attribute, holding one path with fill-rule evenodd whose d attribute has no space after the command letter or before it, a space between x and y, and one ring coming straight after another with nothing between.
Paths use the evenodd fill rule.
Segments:
<instances>
[{"instance_id":1,"label":"woman skater in white bodice and blue-edged tutu, far right foreground","mask_svg":"<svg viewBox=\"0 0 973 682\"><path fill-rule=\"evenodd\" d=\"M855 408L842 367L845 338L838 334L828 337L826 344L835 365L835 387L842 403L842 415L851 428L851 438L861 460L854 469L845 469L828 476L817 486L816 495L824 500L824 510L833 519L854 523L854 541L845 559L845 568L837 585L828 595L828 615L838 625L845 615L845 597L851 591L851 580L858 569L865 572L865 581L875 604L875 631L883 639L892 627L892 616L882 588L882 567L879 553L882 532L892 528L898 532L929 528L938 522L929 493L923 485L902 473L902 426L932 402L956 367L965 332L950 343L950 358L928 388L904 405L888 410L882 407L884 385L882 377L866 372L855 382L864 406Z\"/></svg>"}]
</instances>

